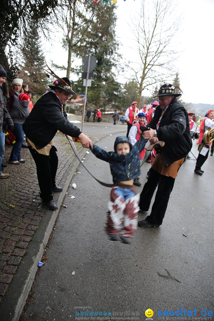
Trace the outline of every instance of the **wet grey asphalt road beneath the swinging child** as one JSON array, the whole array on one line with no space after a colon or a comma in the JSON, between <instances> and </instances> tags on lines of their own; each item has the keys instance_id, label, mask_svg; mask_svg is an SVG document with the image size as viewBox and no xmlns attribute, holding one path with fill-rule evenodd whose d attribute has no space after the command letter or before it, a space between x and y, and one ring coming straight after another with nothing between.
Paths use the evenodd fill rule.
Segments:
<instances>
[{"instance_id":1,"label":"wet grey asphalt road beneath the swinging child","mask_svg":"<svg viewBox=\"0 0 214 321\"><path fill-rule=\"evenodd\" d=\"M86 127L84 132L90 131ZM107 134L98 145L113 150L118 135ZM91 152L85 158L84 164L98 179L112 182L108 163ZM87 314L87 310L102 315L110 311L110 319L115 320L145 320L148 308L154 311L153 320L164 320L158 318L164 310L165 315L173 311L174 317L179 311L177 319L183 320L185 311L188 320L205 320L201 311L206 309L209 317L208 312L214 311L213 161L209 156L204 175L198 176L193 172L194 157L186 160L175 179L162 226L138 227L132 245L108 240L105 222L110 188L98 184L79 165L71 182L77 188L70 186L64 198L67 207L62 206L59 213L45 253L48 259L34 280L24 321L78 320L80 311ZM149 168L148 163L141 168L142 186ZM136 190L141 192L142 187ZM139 213L139 219L145 216ZM88 320L93 318L102 320L98 316Z\"/></svg>"}]
</instances>

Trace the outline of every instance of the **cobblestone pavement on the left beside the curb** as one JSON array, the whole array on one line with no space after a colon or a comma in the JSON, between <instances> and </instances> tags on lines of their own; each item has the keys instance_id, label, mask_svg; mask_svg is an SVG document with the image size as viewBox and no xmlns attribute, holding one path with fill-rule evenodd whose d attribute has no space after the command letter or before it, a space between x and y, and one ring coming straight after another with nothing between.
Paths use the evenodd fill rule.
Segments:
<instances>
[{"instance_id":1,"label":"cobblestone pavement on the left beside the curb","mask_svg":"<svg viewBox=\"0 0 214 321\"><path fill-rule=\"evenodd\" d=\"M94 138L94 134L86 134L91 139ZM57 133L54 141L59 159L56 184L60 185L76 156L62 133ZM81 143L75 145L80 152ZM12 146L5 145L3 163L8 166L4 168L4 172L10 176L0 180L0 302L9 291L17 268L27 254L30 241L47 211L41 204L36 166L29 150L21 149L21 157L26 159L26 162L20 165L8 163L11 150Z\"/></svg>"}]
</instances>

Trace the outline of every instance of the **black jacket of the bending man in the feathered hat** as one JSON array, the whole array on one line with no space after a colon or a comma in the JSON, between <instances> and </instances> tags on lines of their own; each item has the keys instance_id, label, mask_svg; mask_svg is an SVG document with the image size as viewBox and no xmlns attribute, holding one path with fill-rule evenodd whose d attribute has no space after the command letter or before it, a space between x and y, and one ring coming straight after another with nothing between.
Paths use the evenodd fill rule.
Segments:
<instances>
[{"instance_id":1,"label":"black jacket of the bending man in the feathered hat","mask_svg":"<svg viewBox=\"0 0 214 321\"><path fill-rule=\"evenodd\" d=\"M78 127L65 119L59 98L51 91L37 100L22 128L38 150L50 143L57 130L77 138L81 134Z\"/></svg>"}]
</instances>

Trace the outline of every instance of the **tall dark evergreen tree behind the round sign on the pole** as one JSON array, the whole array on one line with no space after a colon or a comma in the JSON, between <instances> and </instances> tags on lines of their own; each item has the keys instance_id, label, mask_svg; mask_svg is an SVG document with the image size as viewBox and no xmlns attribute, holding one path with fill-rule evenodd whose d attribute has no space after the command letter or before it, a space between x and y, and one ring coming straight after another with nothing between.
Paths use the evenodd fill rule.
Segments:
<instances>
[{"instance_id":1,"label":"tall dark evergreen tree behind the round sign on the pole","mask_svg":"<svg viewBox=\"0 0 214 321\"><path fill-rule=\"evenodd\" d=\"M115 80L116 76L113 72L113 68L117 65L118 49L115 35L117 19L115 9L115 5L106 5L102 1L99 1L96 6L88 3L87 10L90 11L93 20L88 23L89 21L86 18L88 13L83 15L79 12L76 15L78 22L73 27L75 28L72 42L73 55L84 58L91 54L97 60L95 77L91 87L88 87L87 103L90 102L102 110L121 106L121 84ZM78 26L81 26L81 28ZM64 47L67 48L66 46L69 48L67 38L64 39ZM75 83L74 88L77 92L84 93L82 82L82 79L79 79Z\"/></svg>"}]
</instances>

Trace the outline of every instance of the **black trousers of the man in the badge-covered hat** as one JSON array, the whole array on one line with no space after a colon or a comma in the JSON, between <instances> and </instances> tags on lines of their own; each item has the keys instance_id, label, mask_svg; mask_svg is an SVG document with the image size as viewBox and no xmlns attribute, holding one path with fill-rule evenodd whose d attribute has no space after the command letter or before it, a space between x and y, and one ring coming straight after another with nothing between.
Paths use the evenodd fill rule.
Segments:
<instances>
[{"instance_id":1,"label":"black trousers of the man in the badge-covered hat","mask_svg":"<svg viewBox=\"0 0 214 321\"><path fill-rule=\"evenodd\" d=\"M147 222L157 225L162 224L174 183L175 178L161 175L154 169L150 169L148 181L145 183L140 195L139 206L142 211L149 211L151 199L157 186L158 190L152 205L151 214L146 217Z\"/></svg>"}]
</instances>

